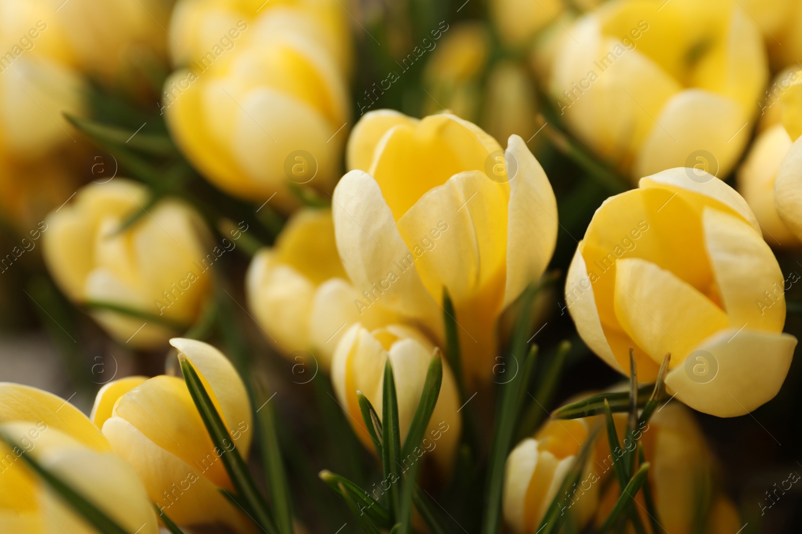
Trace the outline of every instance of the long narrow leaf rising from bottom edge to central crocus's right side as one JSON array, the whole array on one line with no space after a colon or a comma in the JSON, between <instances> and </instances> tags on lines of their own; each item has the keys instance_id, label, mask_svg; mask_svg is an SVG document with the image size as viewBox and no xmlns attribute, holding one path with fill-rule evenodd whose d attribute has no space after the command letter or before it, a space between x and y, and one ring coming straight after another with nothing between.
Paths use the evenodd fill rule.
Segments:
<instances>
[{"instance_id":1,"label":"long narrow leaf rising from bottom edge to central crocus's right side","mask_svg":"<svg viewBox=\"0 0 802 534\"><path fill-rule=\"evenodd\" d=\"M532 318L532 307L541 284L531 283L520 295L520 312L512 333L510 352L512 359L524 359L523 373L516 373L500 386L498 408L496 410L496 427L493 429L490 456L488 458L488 476L484 493L484 519L481 532L496 534L501 526L501 491L504 487L504 465L512 447L512 437L518 422L522 395L529 384L531 371L537 351L526 355L527 335ZM517 361L517 360L516 360ZM520 371L520 370L519 370ZM523 376L522 376L523 375ZM526 380L526 381L525 381Z\"/></svg>"}]
</instances>

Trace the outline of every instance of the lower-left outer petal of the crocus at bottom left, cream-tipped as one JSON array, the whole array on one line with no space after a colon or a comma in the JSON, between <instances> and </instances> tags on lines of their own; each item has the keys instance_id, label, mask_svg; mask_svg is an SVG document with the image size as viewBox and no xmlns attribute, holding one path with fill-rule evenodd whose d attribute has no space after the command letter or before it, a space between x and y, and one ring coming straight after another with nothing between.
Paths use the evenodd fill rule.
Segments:
<instances>
[{"instance_id":1,"label":"lower-left outer petal of the crocus at bottom left, cream-tipped","mask_svg":"<svg viewBox=\"0 0 802 534\"><path fill-rule=\"evenodd\" d=\"M177 524L221 523L235 532L255 532L249 520L207 478L209 466L221 463L215 452L210 450L198 464L188 464L119 417L103 424L103 434L114 451L136 470L150 499Z\"/></svg>"}]
</instances>

